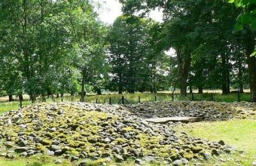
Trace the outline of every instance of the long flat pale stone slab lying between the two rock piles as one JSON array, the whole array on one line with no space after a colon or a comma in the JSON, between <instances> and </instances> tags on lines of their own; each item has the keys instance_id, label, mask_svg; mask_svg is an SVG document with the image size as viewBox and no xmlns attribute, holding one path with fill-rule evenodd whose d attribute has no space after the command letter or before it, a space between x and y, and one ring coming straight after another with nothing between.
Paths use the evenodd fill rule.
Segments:
<instances>
[{"instance_id":1,"label":"long flat pale stone slab lying between the two rock piles","mask_svg":"<svg viewBox=\"0 0 256 166\"><path fill-rule=\"evenodd\" d=\"M192 123L202 121L203 117L159 117L159 118L150 118L144 119L144 121L150 123L168 123L169 121L172 122L181 122L181 123Z\"/></svg>"}]
</instances>

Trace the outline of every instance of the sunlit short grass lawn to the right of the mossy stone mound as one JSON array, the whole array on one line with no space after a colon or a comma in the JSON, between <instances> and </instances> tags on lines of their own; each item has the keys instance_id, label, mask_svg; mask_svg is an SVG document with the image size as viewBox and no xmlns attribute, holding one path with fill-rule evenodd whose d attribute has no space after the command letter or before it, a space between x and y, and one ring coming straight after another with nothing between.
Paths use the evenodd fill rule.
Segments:
<instances>
[{"instance_id":1,"label":"sunlit short grass lawn to the right of the mossy stone mound","mask_svg":"<svg viewBox=\"0 0 256 166\"><path fill-rule=\"evenodd\" d=\"M256 120L231 120L220 122L201 122L184 124L179 130L189 133L194 137L207 140L224 140L226 144L236 146L243 150L244 155L221 156L241 160L241 165L251 165L256 160ZM236 165L234 161L228 161L223 165ZM212 160L210 163L214 163ZM210 164L207 163L207 164Z\"/></svg>"}]
</instances>

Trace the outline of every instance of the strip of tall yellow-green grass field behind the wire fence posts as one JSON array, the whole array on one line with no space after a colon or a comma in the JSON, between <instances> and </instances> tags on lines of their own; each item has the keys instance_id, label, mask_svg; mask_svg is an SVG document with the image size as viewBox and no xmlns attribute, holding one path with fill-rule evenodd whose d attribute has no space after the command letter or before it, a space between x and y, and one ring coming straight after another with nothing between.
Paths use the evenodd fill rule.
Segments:
<instances>
[{"instance_id":1,"label":"strip of tall yellow-green grass field behind the wire fence posts","mask_svg":"<svg viewBox=\"0 0 256 166\"><path fill-rule=\"evenodd\" d=\"M156 95L156 98L155 98ZM140 96L140 102L154 102L155 99L157 102L159 101L170 101L172 100L172 94L162 92L162 93L124 93L124 94L102 94L102 95L88 95L85 98L85 102L88 103L109 103L109 98L111 98L111 103L118 103L120 102L120 99L124 96L125 100L129 103L139 103L139 96ZM28 96L26 96L28 97ZM80 96L65 96L63 98L47 98L46 102L61 102L61 99L65 102L79 102ZM241 94L241 101L250 102L250 93L242 93ZM19 109L19 102L3 102L6 101L4 98L0 98L0 113L6 112L9 110L17 110ZM175 101L178 100L192 100L192 94L188 94L186 97L180 96L180 94L174 94L173 99ZM215 102L237 102L237 94L231 93L228 95L221 95L220 93L214 93L213 99ZM194 94L194 100L195 101L211 101L211 93L204 93L204 94ZM36 100L36 102L42 102L40 98ZM126 103L126 102L125 102ZM25 100L22 102L23 106L29 105L31 102L28 100Z\"/></svg>"}]
</instances>

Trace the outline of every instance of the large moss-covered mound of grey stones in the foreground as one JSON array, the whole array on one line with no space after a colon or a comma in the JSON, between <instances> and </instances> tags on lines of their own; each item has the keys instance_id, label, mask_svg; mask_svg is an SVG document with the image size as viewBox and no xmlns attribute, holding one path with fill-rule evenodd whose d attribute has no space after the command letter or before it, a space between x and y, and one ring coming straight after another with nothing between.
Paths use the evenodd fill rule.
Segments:
<instances>
[{"instance_id":1,"label":"large moss-covered mound of grey stones in the foreground","mask_svg":"<svg viewBox=\"0 0 256 166\"><path fill-rule=\"evenodd\" d=\"M148 110L154 110L152 103L148 105L151 107ZM145 103L138 108L142 112L146 106ZM135 111L129 111L132 107L135 106L127 109L120 105L61 102L36 103L6 112L0 116L3 142L0 156L14 158L15 153L20 156L44 153L71 161L115 158L116 162L123 162L134 158L137 163L180 165L234 151L223 141L197 139L176 133L166 124L147 123Z\"/></svg>"}]
</instances>

